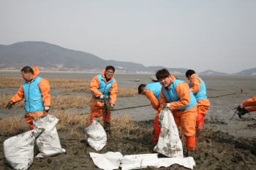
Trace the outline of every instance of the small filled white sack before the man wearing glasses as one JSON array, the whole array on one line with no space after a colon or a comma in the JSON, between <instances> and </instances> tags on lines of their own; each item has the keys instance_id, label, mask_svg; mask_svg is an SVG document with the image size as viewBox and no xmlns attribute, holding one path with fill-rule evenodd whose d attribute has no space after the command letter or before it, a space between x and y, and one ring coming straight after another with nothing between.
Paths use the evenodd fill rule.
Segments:
<instances>
[{"instance_id":1,"label":"small filled white sack before the man wearing glasses","mask_svg":"<svg viewBox=\"0 0 256 170\"><path fill-rule=\"evenodd\" d=\"M97 120L92 120L91 125L86 129L86 134L89 136L87 142L94 150L101 150L107 144L107 134L102 125Z\"/></svg>"}]
</instances>

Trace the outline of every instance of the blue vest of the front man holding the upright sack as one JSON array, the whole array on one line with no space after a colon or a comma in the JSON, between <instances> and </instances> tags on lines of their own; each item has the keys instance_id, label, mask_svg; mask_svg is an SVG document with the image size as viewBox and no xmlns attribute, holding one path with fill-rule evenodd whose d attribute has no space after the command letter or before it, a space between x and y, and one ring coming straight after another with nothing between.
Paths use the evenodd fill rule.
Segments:
<instances>
[{"instance_id":1,"label":"blue vest of the front man holding the upright sack","mask_svg":"<svg viewBox=\"0 0 256 170\"><path fill-rule=\"evenodd\" d=\"M168 89L168 91L164 87L162 87L162 89L164 91L165 98L167 99L167 101L169 101L169 102L180 101L180 98L178 97L178 94L176 92L176 86L181 82L184 82L184 81L175 80L173 83L170 84L170 88ZM179 111L191 109L191 108L193 108L197 105L197 100L195 99L195 96L193 95L193 93L190 89L189 89L189 91L190 91L189 105L187 107L178 109Z\"/></svg>"}]
</instances>

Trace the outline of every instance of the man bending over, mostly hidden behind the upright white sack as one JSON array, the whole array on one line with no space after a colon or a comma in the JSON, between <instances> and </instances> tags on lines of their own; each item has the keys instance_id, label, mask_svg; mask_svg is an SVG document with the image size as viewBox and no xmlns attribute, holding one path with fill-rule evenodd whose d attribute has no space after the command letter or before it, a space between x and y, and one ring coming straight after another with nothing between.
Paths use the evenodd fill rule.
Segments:
<instances>
[{"instance_id":1,"label":"man bending over, mostly hidden behind the upright white sack","mask_svg":"<svg viewBox=\"0 0 256 170\"><path fill-rule=\"evenodd\" d=\"M141 84L138 87L138 93L145 95L150 101L154 109L158 110L160 107L160 93L162 85L159 82L153 82L148 85ZM161 128L158 125L158 118L154 120L154 140L153 143L156 144L158 141L158 136L160 134Z\"/></svg>"}]
</instances>

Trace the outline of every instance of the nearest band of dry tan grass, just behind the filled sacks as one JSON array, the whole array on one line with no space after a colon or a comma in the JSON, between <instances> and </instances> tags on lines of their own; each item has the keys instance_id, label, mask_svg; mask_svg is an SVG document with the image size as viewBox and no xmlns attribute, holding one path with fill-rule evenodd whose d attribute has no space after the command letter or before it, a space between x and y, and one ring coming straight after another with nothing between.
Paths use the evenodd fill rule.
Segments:
<instances>
[{"instance_id":1,"label":"nearest band of dry tan grass, just behind the filled sacks","mask_svg":"<svg viewBox=\"0 0 256 170\"><path fill-rule=\"evenodd\" d=\"M70 136L78 138L85 136L84 129L89 126L90 114L81 115L75 109L53 110L51 114L59 119L59 123L56 125L58 131L65 131ZM102 117L100 117L99 123L103 126ZM132 120L129 115L113 116L111 119L112 135L136 137L143 141L152 142L153 129L153 127L143 128L140 125L135 125L135 120ZM28 131L29 125L26 125L21 117L8 117L7 119L0 120L0 130L0 134L12 135L19 131ZM178 128L178 133L180 134L181 142L184 142L186 139L181 128Z\"/></svg>"}]
</instances>

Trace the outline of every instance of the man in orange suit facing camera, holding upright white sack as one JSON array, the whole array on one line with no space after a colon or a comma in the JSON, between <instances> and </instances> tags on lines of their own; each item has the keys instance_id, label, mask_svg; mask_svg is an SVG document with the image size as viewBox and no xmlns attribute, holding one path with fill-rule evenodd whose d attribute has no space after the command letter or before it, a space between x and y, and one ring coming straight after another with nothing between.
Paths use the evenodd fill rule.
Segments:
<instances>
[{"instance_id":1,"label":"man in orange suit facing camera, holding upright white sack","mask_svg":"<svg viewBox=\"0 0 256 170\"><path fill-rule=\"evenodd\" d=\"M177 80L170 75L167 69L161 69L156 73L157 80L162 85L160 93L160 107L170 109L173 113L177 127L186 137L187 155L195 150L195 122L197 120L197 101L186 82Z\"/></svg>"}]
</instances>

